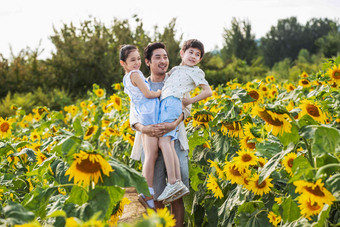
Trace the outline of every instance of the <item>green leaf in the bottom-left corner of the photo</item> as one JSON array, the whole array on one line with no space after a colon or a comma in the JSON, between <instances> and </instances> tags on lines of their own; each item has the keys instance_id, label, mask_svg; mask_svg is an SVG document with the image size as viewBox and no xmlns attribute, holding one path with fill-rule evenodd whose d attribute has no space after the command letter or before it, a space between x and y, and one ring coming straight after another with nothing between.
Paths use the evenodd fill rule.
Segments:
<instances>
[{"instance_id":1,"label":"green leaf in the bottom-left corner of the photo","mask_svg":"<svg viewBox=\"0 0 340 227\"><path fill-rule=\"evenodd\" d=\"M3 208L6 224L25 224L34 220L35 215L31 211L25 209L21 204L8 201L7 206Z\"/></svg>"}]
</instances>

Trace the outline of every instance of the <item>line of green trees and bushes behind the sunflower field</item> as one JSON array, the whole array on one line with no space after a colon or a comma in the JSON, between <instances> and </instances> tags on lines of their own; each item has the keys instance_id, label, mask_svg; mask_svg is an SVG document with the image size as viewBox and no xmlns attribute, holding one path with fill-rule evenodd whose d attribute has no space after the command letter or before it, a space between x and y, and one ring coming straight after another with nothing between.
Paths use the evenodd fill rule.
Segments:
<instances>
[{"instance_id":1,"label":"line of green trees and bushes behind the sunflower field","mask_svg":"<svg viewBox=\"0 0 340 227\"><path fill-rule=\"evenodd\" d=\"M82 97L94 83L112 92L112 84L121 82L124 75L119 65L122 44L135 44L142 52L148 43L161 41L169 51L169 68L180 63L183 35L177 34L175 18L162 31L155 26L151 32L144 30L138 16L132 20L134 28L127 19L114 19L106 26L95 18L78 27L71 23L54 28L50 39L55 51L44 60L38 58L39 48L23 49L10 59L0 53L0 98L38 88L40 93L57 89L70 97ZM261 79L273 72L294 80L301 71L312 70L312 65L322 58L340 53L339 23L327 18L312 18L306 24L299 23L296 17L278 20L258 40L249 21L233 18L231 27L225 28L222 35L223 47L208 52L200 64L212 85L232 79ZM297 67L295 77L285 72L292 66ZM141 70L148 75L144 64Z\"/></svg>"}]
</instances>

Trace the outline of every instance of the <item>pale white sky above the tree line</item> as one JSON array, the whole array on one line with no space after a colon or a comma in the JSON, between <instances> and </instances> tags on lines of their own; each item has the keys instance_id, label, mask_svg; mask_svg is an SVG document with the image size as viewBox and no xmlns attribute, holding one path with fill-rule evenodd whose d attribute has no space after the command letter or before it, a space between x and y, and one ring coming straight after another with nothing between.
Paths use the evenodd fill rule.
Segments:
<instances>
[{"instance_id":1,"label":"pale white sky above the tree line","mask_svg":"<svg viewBox=\"0 0 340 227\"><path fill-rule=\"evenodd\" d=\"M279 19L292 16L305 24L311 18L339 20L340 0L0 0L0 54L10 58L20 50L41 51L45 59L54 51L50 36L64 24L77 26L89 18L110 25L115 18L142 19L144 30L160 31L176 18L177 34L183 40L196 38L206 51L223 46L224 29L232 18L248 20L259 39L276 26Z\"/></svg>"}]
</instances>

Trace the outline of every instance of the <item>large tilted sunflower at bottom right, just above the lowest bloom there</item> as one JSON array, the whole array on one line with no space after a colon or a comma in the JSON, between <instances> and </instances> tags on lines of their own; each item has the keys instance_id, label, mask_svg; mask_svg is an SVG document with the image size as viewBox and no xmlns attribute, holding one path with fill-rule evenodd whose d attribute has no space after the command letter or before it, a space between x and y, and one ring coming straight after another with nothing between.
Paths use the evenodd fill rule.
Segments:
<instances>
[{"instance_id":1,"label":"large tilted sunflower at bottom right, just above the lowest bloom there","mask_svg":"<svg viewBox=\"0 0 340 227\"><path fill-rule=\"evenodd\" d=\"M301 199L310 201L311 204L317 203L327 203L332 205L335 201L335 197L330 193L321 182L321 179L317 180L316 183L311 183L304 180L294 181L296 186L295 192L301 194Z\"/></svg>"}]
</instances>

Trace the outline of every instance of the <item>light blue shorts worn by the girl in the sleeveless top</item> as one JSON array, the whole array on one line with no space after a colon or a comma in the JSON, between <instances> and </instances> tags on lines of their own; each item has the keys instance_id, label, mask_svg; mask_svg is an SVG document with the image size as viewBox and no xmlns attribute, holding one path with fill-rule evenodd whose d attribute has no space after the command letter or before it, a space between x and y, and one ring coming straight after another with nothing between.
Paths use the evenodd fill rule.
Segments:
<instances>
[{"instance_id":1,"label":"light blue shorts worn by the girl in the sleeveless top","mask_svg":"<svg viewBox=\"0 0 340 227\"><path fill-rule=\"evenodd\" d=\"M135 105L138 122L142 125L153 125L158 123L159 99L142 99Z\"/></svg>"}]
</instances>

